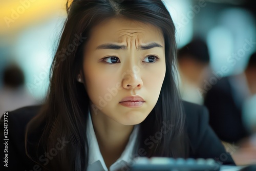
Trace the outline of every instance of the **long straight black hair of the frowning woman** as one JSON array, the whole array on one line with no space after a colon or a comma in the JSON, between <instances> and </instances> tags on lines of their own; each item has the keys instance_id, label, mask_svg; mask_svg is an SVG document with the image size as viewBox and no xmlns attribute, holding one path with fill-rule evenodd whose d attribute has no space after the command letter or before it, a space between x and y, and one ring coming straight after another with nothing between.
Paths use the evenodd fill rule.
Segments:
<instances>
[{"instance_id":1,"label":"long straight black hair of the frowning woman","mask_svg":"<svg viewBox=\"0 0 256 171\"><path fill-rule=\"evenodd\" d=\"M163 2L97 0L68 4L68 17L52 62L45 103L27 126L27 155L45 169L86 170L89 160L86 123L90 99L83 84L76 79L82 69L82 47L86 45L94 26L108 18L124 17L158 27L165 41L166 74L154 109L140 123L138 145L145 153L138 154L146 157L186 157L185 118L175 84L175 26ZM168 131L165 127L163 133L161 128L166 124L169 125ZM157 141L147 141L159 132ZM65 142L62 148L57 147L60 141ZM52 152L54 157L46 160L40 156L44 152Z\"/></svg>"}]
</instances>

